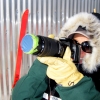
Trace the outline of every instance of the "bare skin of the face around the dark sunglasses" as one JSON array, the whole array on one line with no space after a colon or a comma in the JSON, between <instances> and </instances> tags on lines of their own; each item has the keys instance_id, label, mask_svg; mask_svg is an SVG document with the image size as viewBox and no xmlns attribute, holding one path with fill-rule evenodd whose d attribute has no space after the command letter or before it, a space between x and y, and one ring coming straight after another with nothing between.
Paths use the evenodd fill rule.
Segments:
<instances>
[{"instance_id":1,"label":"bare skin of the face around the dark sunglasses","mask_svg":"<svg viewBox=\"0 0 100 100\"><path fill-rule=\"evenodd\" d=\"M89 40L89 38L85 37L84 35L78 34L78 33L76 33L74 35L74 38L73 39L76 40L79 44L81 44L84 41L88 41ZM81 49L80 59L82 59L85 56L85 54L86 54L86 52L84 52Z\"/></svg>"}]
</instances>

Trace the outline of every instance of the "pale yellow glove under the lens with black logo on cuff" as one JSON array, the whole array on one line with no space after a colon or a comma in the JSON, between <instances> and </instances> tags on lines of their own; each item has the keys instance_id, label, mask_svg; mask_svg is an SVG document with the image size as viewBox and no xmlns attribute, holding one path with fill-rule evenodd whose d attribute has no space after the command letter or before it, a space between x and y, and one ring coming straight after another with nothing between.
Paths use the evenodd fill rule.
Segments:
<instances>
[{"instance_id":1,"label":"pale yellow glove under the lens with black logo on cuff","mask_svg":"<svg viewBox=\"0 0 100 100\"><path fill-rule=\"evenodd\" d=\"M38 57L38 60L48 65L47 76L62 86L73 86L77 84L83 75L78 72L71 59L71 51L67 47L63 58Z\"/></svg>"}]
</instances>

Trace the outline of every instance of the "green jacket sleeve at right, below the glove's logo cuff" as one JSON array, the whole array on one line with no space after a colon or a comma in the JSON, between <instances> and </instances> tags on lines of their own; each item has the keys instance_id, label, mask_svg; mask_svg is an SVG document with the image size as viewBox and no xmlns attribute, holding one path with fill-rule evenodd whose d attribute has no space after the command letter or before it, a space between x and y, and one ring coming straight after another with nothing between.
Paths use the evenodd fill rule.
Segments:
<instances>
[{"instance_id":1,"label":"green jacket sleeve at right, below the glove's logo cuff","mask_svg":"<svg viewBox=\"0 0 100 100\"><path fill-rule=\"evenodd\" d=\"M56 87L62 100L100 100L100 92L95 89L91 78L84 77L72 87Z\"/></svg>"}]
</instances>

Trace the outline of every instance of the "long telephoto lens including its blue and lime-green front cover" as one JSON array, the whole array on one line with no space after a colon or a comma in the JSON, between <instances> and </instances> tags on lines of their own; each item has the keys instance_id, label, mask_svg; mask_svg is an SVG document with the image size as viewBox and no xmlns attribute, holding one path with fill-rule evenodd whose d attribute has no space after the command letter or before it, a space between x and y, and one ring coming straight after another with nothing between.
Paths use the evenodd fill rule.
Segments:
<instances>
[{"instance_id":1,"label":"long telephoto lens including its blue and lime-green front cover","mask_svg":"<svg viewBox=\"0 0 100 100\"><path fill-rule=\"evenodd\" d=\"M61 42L44 36L26 34L21 41L21 49L26 54L62 57L65 48Z\"/></svg>"}]
</instances>

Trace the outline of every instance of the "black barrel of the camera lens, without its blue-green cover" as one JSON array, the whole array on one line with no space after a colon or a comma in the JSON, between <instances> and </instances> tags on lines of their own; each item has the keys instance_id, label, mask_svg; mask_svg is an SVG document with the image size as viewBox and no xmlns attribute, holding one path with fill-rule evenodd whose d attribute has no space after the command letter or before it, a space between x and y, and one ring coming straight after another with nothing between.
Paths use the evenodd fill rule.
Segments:
<instances>
[{"instance_id":1,"label":"black barrel of the camera lens, without its blue-green cover","mask_svg":"<svg viewBox=\"0 0 100 100\"><path fill-rule=\"evenodd\" d=\"M38 36L38 38L38 52L34 54L37 54L38 56L63 56L64 47L61 45L60 41L43 36Z\"/></svg>"}]
</instances>

